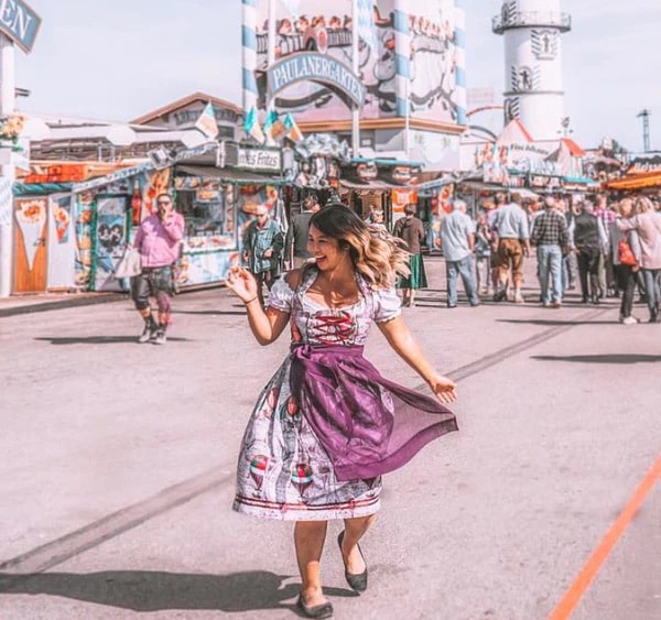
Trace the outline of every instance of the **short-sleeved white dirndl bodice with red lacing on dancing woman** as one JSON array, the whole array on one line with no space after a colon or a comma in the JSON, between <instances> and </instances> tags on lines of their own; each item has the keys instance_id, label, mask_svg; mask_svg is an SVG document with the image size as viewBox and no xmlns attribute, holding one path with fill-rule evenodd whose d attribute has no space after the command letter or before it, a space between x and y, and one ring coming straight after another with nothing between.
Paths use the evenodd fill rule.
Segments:
<instances>
[{"instance_id":1,"label":"short-sleeved white dirndl bodice with red lacing on dancing woman","mask_svg":"<svg viewBox=\"0 0 661 620\"><path fill-rule=\"evenodd\" d=\"M325 307L307 295L317 275L316 268L306 269L295 291L284 276L280 278L269 295L270 307L291 314L293 342L362 346L372 322L384 323L401 313L394 287L375 290L359 273L356 281L360 298L342 308Z\"/></svg>"}]
</instances>

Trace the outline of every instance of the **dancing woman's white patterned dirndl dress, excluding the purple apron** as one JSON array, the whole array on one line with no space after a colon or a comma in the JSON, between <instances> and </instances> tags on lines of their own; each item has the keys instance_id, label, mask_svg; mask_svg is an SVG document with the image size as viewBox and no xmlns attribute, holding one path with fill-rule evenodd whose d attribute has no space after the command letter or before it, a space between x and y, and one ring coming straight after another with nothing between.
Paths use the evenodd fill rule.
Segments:
<instances>
[{"instance_id":1,"label":"dancing woman's white patterned dirndl dress, excluding the purple apron","mask_svg":"<svg viewBox=\"0 0 661 620\"><path fill-rule=\"evenodd\" d=\"M365 344L373 322L391 320L401 313L393 287L372 290L359 274L356 278L361 297L357 303L344 308L318 305L306 294L317 273L314 267L304 270L295 291L284 278L280 278L267 302L270 307L291 315L292 342L300 348L342 350L344 346L355 350ZM294 355L288 356L280 366L259 395L250 416L238 459L234 510L264 519L291 521L327 521L373 514L380 505L381 476L346 479L346 476L336 475L333 454L329 455L324 447L327 444L315 433L315 420L306 417L299 404L304 401L292 393L294 358ZM344 360L344 356L338 356L338 359ZM369 365L367 360L364 362ZM322 370L326 369L324 365L322 360ZM310 377L306 372L302 374ZM376 394L392 406L389 392L381 388L371 390L371 385L372 396ZM392 385L397 391L397 384ZM359 416L360 413L357 413L356 417ZM454 416L449 414L449 417L447 431L456 429ZM443 432L436 431L435 436Z\"/></svg>"}]
</instances>

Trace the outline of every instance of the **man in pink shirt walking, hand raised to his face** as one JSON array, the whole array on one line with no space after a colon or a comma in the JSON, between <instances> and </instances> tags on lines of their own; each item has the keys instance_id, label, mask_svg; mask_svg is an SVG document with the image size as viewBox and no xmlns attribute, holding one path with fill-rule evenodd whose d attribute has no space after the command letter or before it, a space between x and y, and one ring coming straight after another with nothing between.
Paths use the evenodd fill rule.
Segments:
<instances>
[{"instance_id":1,"label":"man in pink shirt walking, hand raised to his face","mask_svg":"<svg viewBox=\"0 0 661 620\"><path fill-rule=\"evenodd\" d=\"M172 265L180 257L184 218L174 210L170 194L160 194L156 205L159 213L142 221L133 240L140 252L142 272L131 279L131 297L144 319L144 329L138 341L164 345L174 289ZM158 323L152 314L150 296L156 300Z\"/></svg>"}]
</instances>

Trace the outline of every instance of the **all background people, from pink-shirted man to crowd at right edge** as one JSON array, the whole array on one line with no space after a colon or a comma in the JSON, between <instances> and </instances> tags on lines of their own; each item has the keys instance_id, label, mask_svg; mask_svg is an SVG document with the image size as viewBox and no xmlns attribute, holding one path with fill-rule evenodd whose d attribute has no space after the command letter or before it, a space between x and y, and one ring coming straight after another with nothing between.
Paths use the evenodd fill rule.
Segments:
<instances>
[{"instance_id":1,"label":"all background people, from pink-shirted man to crowd at right edge","mask_svg":"<svg viewBox=\"0 0 661 620\"><path fill-rule=\"evenodd\" d=\"M162 345L171 320L173 267L181 254L183 218L170 195L162 194L158 204L159 213L142 222L136 237L142 269L131 281L131 292L144 319L139 341ZM266 205L258 206L243 231L242 261L259 284L261 305L264 285L271 291L284 268L301 268L313 258L308 227L321 208L315 195L305 197L284 233ZM427 286L422 253L425 229L416 213L415 205L408 205L391 231L381 209L372 209L365 220L376 232L391 232L409 252L408 271L397 279L403 307L415 306L416 292ZM458 305L459 280L472 307L491 300L534 301L561 308L567 292L579 286L584 304L620 297L619 320L625 325L640 322L633 315L638 291L639 301L649 309L648 320L661 322L661 206L642 194L617 200L606 195L522 200L516 192L499 192L483 199L473 217L466 203L455 198L441 225L441 247L448 308ZM533 253L540 293L527 300L523 264ZM156 300L156 316L149 297Z\"/></svg>"}]
</instances>

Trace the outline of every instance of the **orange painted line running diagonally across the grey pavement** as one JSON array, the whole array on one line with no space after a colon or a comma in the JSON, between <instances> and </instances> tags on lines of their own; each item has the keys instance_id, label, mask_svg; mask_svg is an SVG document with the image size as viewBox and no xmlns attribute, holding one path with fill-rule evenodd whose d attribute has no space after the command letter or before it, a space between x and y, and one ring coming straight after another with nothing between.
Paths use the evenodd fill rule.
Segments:
<instances>
[{"instance_id":1,"label":"orange painted line running diagonally across the grey pavement","mask_svg":"<svg viewBox=\"0 0 661 620\"><path fill-rule=\"evenodd\" d=\"M599 573L602 565L619 541L625 530L631 523L633 516L644 502L648 493L652 490L654 485L661 478L661 455L657 458L657 461L652 468L648 471L647 476L642 479L642 482L636 489L636 492L629 500L629 503L619 513L615 520L610 530L606 533L597 548L589 556L585 566L578 573L574 583L566 590L562 600L557 603L549 620L566 620L574 612L574 609L578 605L578 601Z\"/></svg>"}]
</instances>

